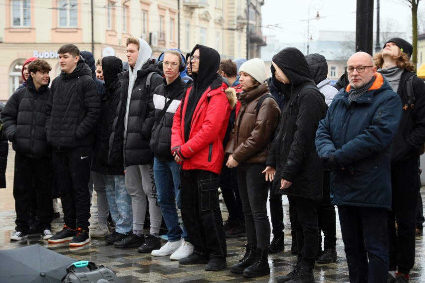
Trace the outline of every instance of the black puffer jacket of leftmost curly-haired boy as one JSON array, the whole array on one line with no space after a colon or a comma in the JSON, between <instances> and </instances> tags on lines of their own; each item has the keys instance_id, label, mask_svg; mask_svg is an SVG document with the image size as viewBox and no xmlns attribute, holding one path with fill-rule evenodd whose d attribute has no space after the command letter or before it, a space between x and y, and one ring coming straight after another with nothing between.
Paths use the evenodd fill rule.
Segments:
<instances>
[{"instance_id":1,"label":"black puffer jacket of leftmost curly-haired boy","mask_svg":"<svg viewBox=\"0 0 425 283\"><path fill-rule=\"evenodd\" d=\"M3 133L17 153L29 157L46 156L51 151L44 133L50 88L45 85L37 91L32 77L26 84L12 94L1 112Z\"/></svg>"}]
</instances>

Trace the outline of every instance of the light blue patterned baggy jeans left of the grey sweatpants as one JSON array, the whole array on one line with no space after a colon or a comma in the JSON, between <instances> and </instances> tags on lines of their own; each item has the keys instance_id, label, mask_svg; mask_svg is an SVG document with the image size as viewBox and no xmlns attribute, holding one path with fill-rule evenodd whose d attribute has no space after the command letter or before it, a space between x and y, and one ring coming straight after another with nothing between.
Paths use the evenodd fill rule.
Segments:
<instances>
[{"instance_id":1,"label":"light blue patterned baggy jeans left of the grey sweatpants","mask_svg":"<svg viewBox=\"0 0 425 283\"><path fill-rule=\"evenodd\" d=\"M133 229L131 197L125 186L124 175L105 175L106 198L115 222L115 232L126 234Z\"/></svg>"}]
</instances>

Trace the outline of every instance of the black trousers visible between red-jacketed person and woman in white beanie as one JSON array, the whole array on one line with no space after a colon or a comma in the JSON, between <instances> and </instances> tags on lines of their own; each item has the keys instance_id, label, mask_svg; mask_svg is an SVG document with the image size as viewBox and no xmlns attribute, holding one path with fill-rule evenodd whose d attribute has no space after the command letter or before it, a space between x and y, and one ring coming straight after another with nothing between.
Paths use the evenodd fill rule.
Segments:
<instances>
[{"instance_id":1,"label":"black trousers visible between red-jacketed person and woman in white beanie","mask_svg":"<svg viewBox=\"0 0 425 283\"><path fill-rule=\"evenodd\" d=\"M240 201L239 189L237 186L236 168L228 168L223 164L221 173L218 176L220 181L221 194L223 195L224 204L229 213L229 219L239 219L244 221L242 211L242 202Z\"/></svg>"}]
</instances>

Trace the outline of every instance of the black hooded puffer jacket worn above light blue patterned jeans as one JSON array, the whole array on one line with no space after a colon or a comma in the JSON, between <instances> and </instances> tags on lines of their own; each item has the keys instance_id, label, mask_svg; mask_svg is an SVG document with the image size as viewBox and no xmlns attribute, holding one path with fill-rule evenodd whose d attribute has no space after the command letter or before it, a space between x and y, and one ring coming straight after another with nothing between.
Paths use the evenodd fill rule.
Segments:
<instances>
[{"instance_id":1,"label":"black hooded puffer jacket worn above light blue patterned jeans","mask_svg":"<svg viewBox=\"0 0 425 283\"><path fill-rule=\"evenodd\" d=\"M102 98L100 123L96 128L91 170L107 175L122 175L124 174L123 154L116 162L108 162L109 137L112 133L112 124L121 95L121 83L118 80L118 74L123 71L121 59L115 56L104 57L102 70L105 79L105 94Z\"/></svg>"}]
</instances>

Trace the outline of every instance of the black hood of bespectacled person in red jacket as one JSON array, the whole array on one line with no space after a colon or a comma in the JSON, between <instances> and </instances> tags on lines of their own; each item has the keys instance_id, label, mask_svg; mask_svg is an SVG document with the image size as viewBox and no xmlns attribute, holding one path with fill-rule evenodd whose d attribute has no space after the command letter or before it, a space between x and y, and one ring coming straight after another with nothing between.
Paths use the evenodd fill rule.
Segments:
<instances>
[{"instance_id":1,"label":"black hood of bespectacled person in red jacket","mask_svg":"<svg viewBox=\"0 0 425 283\"><path fill-rule=\"evenodd\" d=\"M207 89L207 87L212 85L213 82L217 80L217 78L220 80L221 83L221 76L218 77L219 74L217 74L218 68L220 66L220 54L218 54L217 50L211 47L197 44L192 50L191 56L194 55L195 50L197 49L199 49L199 57L201 59L199 61L200 63L198 73L192 73L194 85L197 85L197 87L201 89ZM213 84L211 86L211 89L216 89L219 86L221 86L221 84L219 84L218 86L215 86L215 84Z\"/></svg>"}]
</instances>

